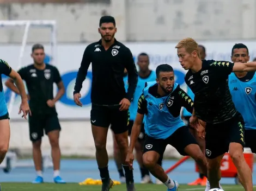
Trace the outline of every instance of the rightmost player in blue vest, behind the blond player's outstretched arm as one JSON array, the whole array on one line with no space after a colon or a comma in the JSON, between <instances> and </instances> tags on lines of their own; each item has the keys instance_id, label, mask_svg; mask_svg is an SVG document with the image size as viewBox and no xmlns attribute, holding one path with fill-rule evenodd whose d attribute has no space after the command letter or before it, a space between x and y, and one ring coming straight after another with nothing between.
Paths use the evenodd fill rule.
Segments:
<instances>
[{"instance_id":1,"label":"rightmost player in blue vest, behind the blond player's outstretched arm","mask_svg":"<svg viewBox=\"0 0 256 191\"><path fill-rule=\"evenodd\" d=\"M235 44L231 60L246 63L249 51L245 44ZM237 111L245 120L245 147L256 153L256 74L255 72L235 72L228 78L229 90Z\"/></svg>"}]
</instances>

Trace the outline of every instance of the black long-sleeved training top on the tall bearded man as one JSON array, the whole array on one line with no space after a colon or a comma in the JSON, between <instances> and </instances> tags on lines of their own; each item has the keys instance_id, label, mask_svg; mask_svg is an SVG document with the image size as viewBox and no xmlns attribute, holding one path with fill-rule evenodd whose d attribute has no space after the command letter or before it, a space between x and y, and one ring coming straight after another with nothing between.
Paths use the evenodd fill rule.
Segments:
<instances>
[{"instance_id":1,"label":"black long-sleeved training top on the tall bearded man","mask_svg":"<svg viewBox=\"0 0 256 191\"><path fill-rule=\"evenodd\" d=\"M84 50L81 66L77 73L75 91L79 93L86 79L88 67L92 62L93 104L117 105L123 98L133 98L138 81L138 73L129 48L115 40L107 50L101 40L89 44ZM129 87L127 93L124 86L124 69L127 69Z\"/></svg>"}]
</instances>

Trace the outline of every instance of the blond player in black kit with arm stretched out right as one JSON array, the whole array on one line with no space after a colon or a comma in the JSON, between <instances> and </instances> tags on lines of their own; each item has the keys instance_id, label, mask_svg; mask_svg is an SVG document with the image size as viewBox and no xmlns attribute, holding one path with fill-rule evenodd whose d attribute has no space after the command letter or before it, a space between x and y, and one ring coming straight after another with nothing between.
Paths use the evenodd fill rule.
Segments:
<instances>
[{"instance_id":1,"label":"blond player in black kit with arm stretched out right","mask_svg":"<svg viewBox=\"0 0 256 191\"><path fill-rule=\"evenodd\" d=\"M193 126L198 119L206 122L205 128L198 126L197 130L199 135L206 132L210 188L219 187L221 160L225 152L229 151L242 186L246 191L252 191L252 173L243 157L245 125L231 99L227 79L231 72L256 71L256 62L202 61L198 44L191 38L181 40L175 48L182 68L188 70L186 84L195 94L190 123ZM210 188L206 187L206 190Z\"/></svg>"}]
</instances>

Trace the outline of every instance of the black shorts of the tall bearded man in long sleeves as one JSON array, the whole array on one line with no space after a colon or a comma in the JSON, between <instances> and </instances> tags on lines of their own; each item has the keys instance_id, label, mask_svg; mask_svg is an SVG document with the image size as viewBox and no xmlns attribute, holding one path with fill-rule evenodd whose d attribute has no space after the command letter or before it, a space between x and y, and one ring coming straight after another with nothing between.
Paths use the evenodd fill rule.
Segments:
<instances>
[{"instance_id":1,"label":"black shorts of the tall bearded man in long sleeves","mask_svg":"<svg viewBox=\"0 0 256 191\"><path fill-rule=\"evenodd\" d=\"M98 106L92 105L90 111L90 123L102 128L111 129L115 134L123 133L128 130L130 120L129 111L120 111L119 106Z\"/></svg>"}]
</instances>

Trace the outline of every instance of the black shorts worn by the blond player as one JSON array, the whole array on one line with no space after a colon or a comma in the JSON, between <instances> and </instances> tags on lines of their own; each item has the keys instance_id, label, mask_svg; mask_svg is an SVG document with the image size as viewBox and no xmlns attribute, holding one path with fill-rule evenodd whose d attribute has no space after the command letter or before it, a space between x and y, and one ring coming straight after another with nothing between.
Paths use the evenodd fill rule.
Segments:
<instances>
[{"instance_id":1,"label":"black shorts worn by the blond player","mask_svg":"<svg viewBox=\"0 0 256 191\"><path fill-rule=\"evenodd\" d=\"M245 145L245 122L240 113L223 123L206 123L206 158L213 159L225 154L230 143Z\"/></svg>"}]
</instances>

